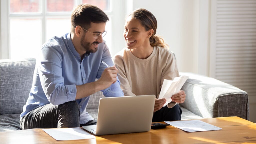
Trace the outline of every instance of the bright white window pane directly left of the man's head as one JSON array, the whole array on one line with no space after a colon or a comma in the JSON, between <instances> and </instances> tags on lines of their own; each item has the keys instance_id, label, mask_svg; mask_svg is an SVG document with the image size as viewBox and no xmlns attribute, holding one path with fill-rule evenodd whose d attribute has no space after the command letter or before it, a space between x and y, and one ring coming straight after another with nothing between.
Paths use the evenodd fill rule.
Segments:
<instances>
[{"instance_id":1,"label":"bright white window pane directly left of the man's head","mask_svg":"<svg viewBox=\"0 0 256 144\"><path fill-rule=\"evenodd\" d=\"M46 40L54 36L63 36L70 32L70 18L47 18L46 19Z\"/></svg>"}]
</instances>

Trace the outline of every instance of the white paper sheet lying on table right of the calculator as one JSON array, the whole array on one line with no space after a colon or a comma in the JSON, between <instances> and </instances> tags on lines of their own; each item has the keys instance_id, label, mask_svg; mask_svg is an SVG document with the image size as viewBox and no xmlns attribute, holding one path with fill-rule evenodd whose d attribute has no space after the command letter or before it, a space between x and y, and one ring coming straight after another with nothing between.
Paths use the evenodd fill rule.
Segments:
<instances>
[{"instance_id":1,"label":"white paper sheet lying on table right of the calculator","mask_svg":"<svg viewBox=\"0 0 256 144\"><path fill-rule=\"evenodd\" d=\"M179 128L188 132L195 131L208 131L208 130L220 130L222 128L216 127L214 125L208 124L201 120L182 120L182 121L165 121L176 128Z\"/></svg>"}]
</instances>

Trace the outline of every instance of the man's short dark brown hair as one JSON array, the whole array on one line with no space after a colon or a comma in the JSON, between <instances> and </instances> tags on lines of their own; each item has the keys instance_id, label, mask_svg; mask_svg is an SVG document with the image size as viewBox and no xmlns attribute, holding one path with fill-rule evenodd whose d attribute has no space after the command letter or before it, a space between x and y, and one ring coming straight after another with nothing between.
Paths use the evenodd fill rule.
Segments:
<instances>
[{"instance_id":1,"label":"man's short dark brown hair","mask_svg":"<svg viewBox=\"0 0 256 144\"><path fill-rule=\"evenodd\" d=\"M91 27L93 23L106 23L108 16L97 6L91 4L80 4L74 7L71 14L71 32L74 32L76 26L84 29Z\"/></svg>"}]
</instances>

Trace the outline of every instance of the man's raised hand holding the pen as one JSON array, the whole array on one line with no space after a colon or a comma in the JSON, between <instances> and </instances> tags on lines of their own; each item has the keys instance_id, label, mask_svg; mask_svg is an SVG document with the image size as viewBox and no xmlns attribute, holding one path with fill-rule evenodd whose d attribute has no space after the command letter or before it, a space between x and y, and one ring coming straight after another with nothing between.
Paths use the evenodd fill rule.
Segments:
<instances>
[{"instance_id":1,"label":"man's raised hand holding the pen","mask_svg":"<svg viewBox=\"0 0 256 144\"><path fill-rule=\"evenodd\" d=\"M118 69L115 66L105 68L99 80L97 80L98 84L102 87L102 89L106 89L110 87L112 84L116 82L116 75L118 73Z\"/></svg>"}]
</instances>

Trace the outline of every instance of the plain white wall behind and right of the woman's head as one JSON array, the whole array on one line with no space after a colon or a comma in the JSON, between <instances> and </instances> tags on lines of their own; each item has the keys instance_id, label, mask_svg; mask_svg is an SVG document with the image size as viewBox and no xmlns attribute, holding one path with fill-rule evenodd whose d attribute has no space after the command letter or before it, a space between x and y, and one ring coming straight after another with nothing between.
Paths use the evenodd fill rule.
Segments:
<instances>
[{"instance_id":1,"label":"plain white wall behind and right of the woman's head","mask_svg":"<svg viewBox=\"0 0 256 144\"><path fill-rule=\"evenodd\" d=\"M132 9L137 8L156 17L156 33L175 53L179 71L198 73L199 0L133 1Z\"/></svg>"}]
</instances>

